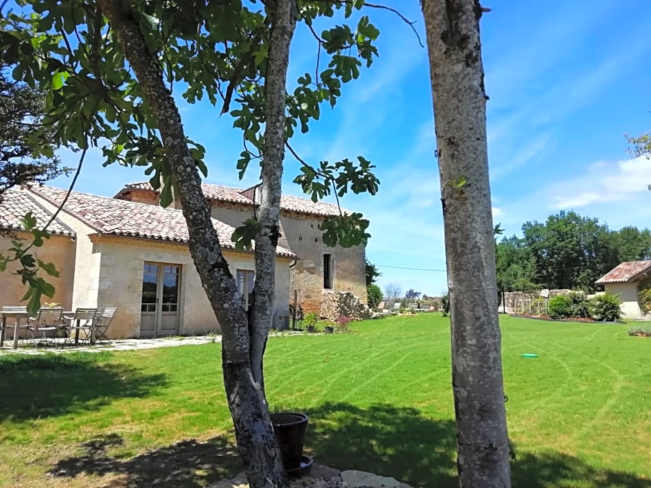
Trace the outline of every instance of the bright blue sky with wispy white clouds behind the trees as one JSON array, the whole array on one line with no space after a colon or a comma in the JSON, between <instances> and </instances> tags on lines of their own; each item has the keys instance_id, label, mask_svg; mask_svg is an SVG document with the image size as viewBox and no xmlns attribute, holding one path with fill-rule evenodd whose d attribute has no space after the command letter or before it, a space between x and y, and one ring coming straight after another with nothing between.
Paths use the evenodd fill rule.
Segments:
<instances>
[{"instance_id":1,"label":"bright blue sky with wispy white clouds behind the trees","mask_svg":"<svg viewBox=\"0 0 651 488\"><path fill-rule=\"evenodd\" d=\"M416 20L424 39L417 0L384 3ZM651 3L484 3L493 8L481 34L494 221L518 233L528 220L573 209L612 228L650 226L651 161L632 160L623 134L651 129ZM380 266L380 285L440 293L447 286L427 51L390 12L366 13L381 31L380 57L292 144L315 163L363 155L377 165L380 192L346 196L342 205L371 220L367 255ZM289 80L313 72L315 55L314 39L300 28ZM206 146L208 182L256 183L253 166L238 181L241 135L229 116L206 104L181 105L181 114L190 137ZM62 157L76 165L74 155ZM283 190L293 195L301 195L292 183L297 171L287 156ZM141 168L102 168L101 153L90 152L76 189L113 196L143 179Z\"/></svg>"}]
</instances>

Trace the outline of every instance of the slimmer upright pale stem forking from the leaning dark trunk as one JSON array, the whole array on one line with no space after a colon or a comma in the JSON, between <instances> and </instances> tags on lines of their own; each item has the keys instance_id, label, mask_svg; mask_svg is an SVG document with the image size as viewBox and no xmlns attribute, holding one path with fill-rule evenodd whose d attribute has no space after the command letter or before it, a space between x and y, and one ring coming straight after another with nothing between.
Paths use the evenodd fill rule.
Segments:
<instances>
[{"instance_id":1,"label":"slimmer upright pale stem forking from the leaning dark trunk","mask_svg":"<svg viewBox=\"0 0 651 488\"><path fill-rule=\"evenodd\" d=\"M269 60L265 76L265 147L262 151L262 185L256 233L256 285L251 314L251 368L260 390L265 391L262 356L271 326L276 291L276 246L280 235L280 186L285 158L285 94L289 44L296 20L295 0L278 0L269 36Z\"/></svg>"}]
</instances>

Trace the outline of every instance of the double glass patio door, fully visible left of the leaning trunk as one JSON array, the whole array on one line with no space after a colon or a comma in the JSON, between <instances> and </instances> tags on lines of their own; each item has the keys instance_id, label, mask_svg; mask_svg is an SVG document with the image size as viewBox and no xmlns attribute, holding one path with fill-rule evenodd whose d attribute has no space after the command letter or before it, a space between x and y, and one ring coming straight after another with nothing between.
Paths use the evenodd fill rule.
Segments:
<instances>
[{"instance_id":1,"label":"double glass patio door, fully visible left of the leaning trunk","mask_svg":"<svg viewBox=\"0 0 651 488\"><path fill-rule=\"evenodd\" d=\"M145 262L141 300L140 336L160 337L179 333L181 266Z\"/></svg>"}]
</instances>

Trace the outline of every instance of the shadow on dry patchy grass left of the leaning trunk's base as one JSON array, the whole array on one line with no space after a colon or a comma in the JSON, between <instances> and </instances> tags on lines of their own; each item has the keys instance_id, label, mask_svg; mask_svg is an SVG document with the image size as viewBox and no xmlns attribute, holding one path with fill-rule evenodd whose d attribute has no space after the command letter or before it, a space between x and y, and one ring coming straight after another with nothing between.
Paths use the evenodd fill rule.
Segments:
<instances>
[{"instance_id":1,"label":"shadow on dry patchy grass left of the leaning trunk's base","mask_svg":"<svg viewBox=\"0 0 651 488\"><path fill-rule=\"evenodd\" d=\"M84 442L80 455L60 460L48 474L57 478L75 478L82 473L109 476L106 487L118 486L118 478L119 486L130 488L202 488L233 478L244 469L237 449L224 437L206 442L185 440L127 460L109 453L122 444L117 434Z\"/></svg>"}]
</instances>

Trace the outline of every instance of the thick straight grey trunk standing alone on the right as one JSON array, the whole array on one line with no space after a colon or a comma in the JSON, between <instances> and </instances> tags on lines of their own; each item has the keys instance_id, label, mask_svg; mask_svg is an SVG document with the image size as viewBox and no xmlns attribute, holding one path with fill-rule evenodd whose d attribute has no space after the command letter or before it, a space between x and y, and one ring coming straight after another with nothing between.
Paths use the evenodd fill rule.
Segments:
<instances>
[{"instance_id":1,"label":"thick straight grey trunk standing alone on the right","mask_svg":"<svg viewBox=\"0 0 651 488\"><path fill-rule=\"evenodd\" d=\"M452 322L459 486L509 488L476 0L422 0Z\"/></svg>"}]
</instances>

